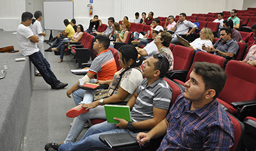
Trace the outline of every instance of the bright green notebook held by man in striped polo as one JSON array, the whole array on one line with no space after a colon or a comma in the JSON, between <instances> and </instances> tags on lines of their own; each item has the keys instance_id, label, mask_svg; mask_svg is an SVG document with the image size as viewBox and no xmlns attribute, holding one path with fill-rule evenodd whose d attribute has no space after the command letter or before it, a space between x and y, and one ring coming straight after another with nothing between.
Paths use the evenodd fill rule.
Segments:
<instances>
[{"instance_id":1,"label":"bright green notebook held by man in striped polo","mask_svg":"<svg viewBox=\"0 0 256 151\"><path fill-rule=\"evenodd\" d=\"M130 107L129 106L117 106L117 105L105 105L105 113L108 123L119 123L115 118L122 118L131 121Z\"/></svg>"}]
</instances>

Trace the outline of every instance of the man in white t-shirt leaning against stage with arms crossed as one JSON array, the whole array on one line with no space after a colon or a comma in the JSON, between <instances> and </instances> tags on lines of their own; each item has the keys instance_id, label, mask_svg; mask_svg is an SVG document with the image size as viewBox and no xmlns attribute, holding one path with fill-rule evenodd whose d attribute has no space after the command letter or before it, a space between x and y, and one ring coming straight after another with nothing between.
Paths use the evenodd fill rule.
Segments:
<instances>
[{"instance_id":1,"label":"man in white t-shirt leaning against stage with arms crossed","mask_svg":"<svg viewBox=\"0 0 256 151\"><path fill-rule=\"evenodd\" d=\"M51 85L52 89L61 89L67 86L67 83L61 83L50 68L50 64L40 52L36 43L39 38L34 35L33 31L29 28L32 22L32 13L22 13L21 23L17 28L17 39L20 45L20 51L23 56L29 56L29 60L39 70L45 82Z\"/></svg>"}]
</instances>

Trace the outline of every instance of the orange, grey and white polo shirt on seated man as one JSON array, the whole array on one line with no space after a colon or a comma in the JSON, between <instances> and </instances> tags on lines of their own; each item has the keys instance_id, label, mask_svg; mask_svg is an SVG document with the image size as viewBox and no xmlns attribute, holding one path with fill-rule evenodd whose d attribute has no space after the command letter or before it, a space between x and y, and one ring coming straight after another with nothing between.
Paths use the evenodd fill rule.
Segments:
<instances>
[{"instance_id":1,"label":"orange, grey and white polo shirt on seated man","mask_svg":"<svg viewBox=\"0 0 256 151\"><path fill-rule=\"evenodd\" d=\"M97 54L97 57L92 61L89 72L97 74L97 80L113 79L116 73L116 62L112 52L106 49Z\"/></svg>"}]
</instances>

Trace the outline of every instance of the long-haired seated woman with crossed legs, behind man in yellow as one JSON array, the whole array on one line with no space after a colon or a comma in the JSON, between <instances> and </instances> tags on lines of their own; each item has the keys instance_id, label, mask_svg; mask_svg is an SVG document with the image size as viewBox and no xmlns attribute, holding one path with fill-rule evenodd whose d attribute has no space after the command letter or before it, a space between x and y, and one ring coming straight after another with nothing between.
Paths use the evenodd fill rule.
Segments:
<instances>
[{"instance_id":1,"label":"long-haired seated woman with crossed legs, behind man in yellow","mask_svg":"<svg viewBox=\"0 0 256 151\"><path fill-rule=\"evenodd\" d=\"M83 25L79 24L77 25L76 33L73 38L69 42L79 42L83 36L84 28ZM52 48L52 51L59 51L60 50L60 60L58 63L61 63L63 61L64 56L64 50L67 48L68 44L65 44L65 40L61 42L62 44L58 45L56 48Z\"/></svg>"}]
</instances>

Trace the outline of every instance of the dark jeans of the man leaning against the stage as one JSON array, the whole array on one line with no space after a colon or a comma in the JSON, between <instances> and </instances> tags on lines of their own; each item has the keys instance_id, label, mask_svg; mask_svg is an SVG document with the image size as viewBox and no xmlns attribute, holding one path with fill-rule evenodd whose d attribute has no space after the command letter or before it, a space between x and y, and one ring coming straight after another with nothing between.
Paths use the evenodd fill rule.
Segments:
<instances>
[{"instance_id":1,"label":"dark jeans of the man leaning against the stage","mask_svg":"<svg viewBox=\"0 0 256 151\"><path fill-rule=\"evenodd\" d=\"M44 58L43 54L40 51L31 54L29 56L29 60L38 69L45 82L51 85L52 88L60 84L60 81L52 72L49 62Z\"/></svg>"}]
</instances>

